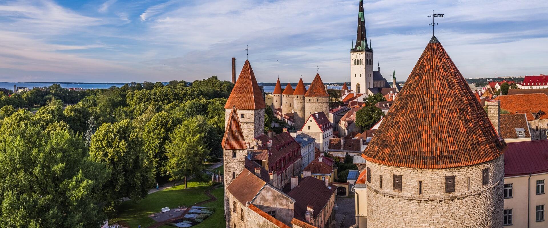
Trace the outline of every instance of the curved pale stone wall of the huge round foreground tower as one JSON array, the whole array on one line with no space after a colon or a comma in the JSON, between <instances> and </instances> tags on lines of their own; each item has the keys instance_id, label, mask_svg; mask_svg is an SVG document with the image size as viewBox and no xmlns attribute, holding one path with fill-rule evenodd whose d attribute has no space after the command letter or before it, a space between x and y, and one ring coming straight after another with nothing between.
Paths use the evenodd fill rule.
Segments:
<instances>
[{"instance_id":1,"label":"curved pale stone wall of the huge round foreground tower","mask_svg":"<svg viewBox=\"0 0 548 228\"><path fill-rule=\"evenodd\" d=\"M448 169L373 162L367 162L367 167L371 169L371 183L367 183L368 228L503 227L504 155L479 165ZM484 168L489 168L486 185L482 185ZM402 191L393 190L392 174L402 176ZM446 176L455 176L455 192L446 193ZM421 195L419 181L423 183Z\"/></svg>"}]
</instances>

